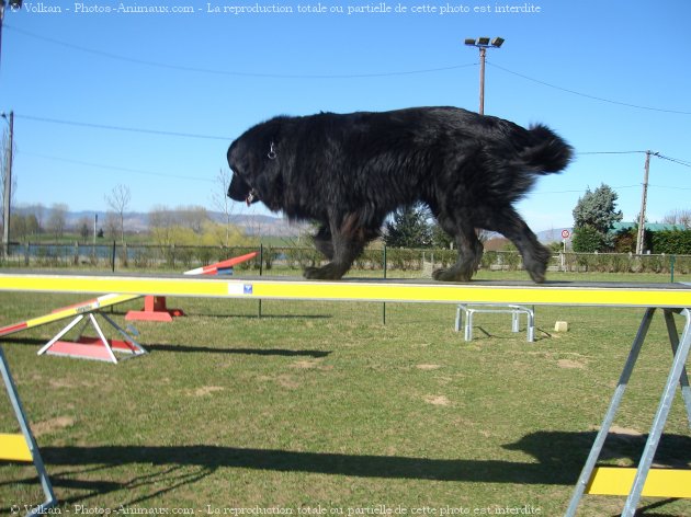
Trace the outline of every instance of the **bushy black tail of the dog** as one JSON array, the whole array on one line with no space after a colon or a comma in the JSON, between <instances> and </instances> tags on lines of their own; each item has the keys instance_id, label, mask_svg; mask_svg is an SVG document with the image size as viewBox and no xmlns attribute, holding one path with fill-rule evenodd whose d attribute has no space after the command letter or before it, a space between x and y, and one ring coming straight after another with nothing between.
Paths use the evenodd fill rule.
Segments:
<instances>
[{"instance_id":1,"label":"bushy black tail of the dog","mask_svg":"<svg viewBox=\"0 0 691 517\"><path fill-rule=\"evenodd\" d=\"M519 160L536 174L551 174L566 169L574 157L574 148L547 126L537 124L528 130L528 142L519 152Z\"/></svg>"}]
</instances>

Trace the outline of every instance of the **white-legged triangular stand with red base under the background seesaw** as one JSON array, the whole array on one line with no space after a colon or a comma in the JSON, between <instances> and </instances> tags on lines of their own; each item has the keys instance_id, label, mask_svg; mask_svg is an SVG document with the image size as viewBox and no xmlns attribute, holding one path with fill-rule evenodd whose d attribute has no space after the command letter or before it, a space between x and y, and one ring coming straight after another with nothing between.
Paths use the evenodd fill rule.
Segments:
<instances>
[{"instance_id":1,"label":"white-legged triangular stand with red base under the background seesaw","mask_svg":"<svg viewBox=\"0 0 691 517\"><path fill-rule=\"evenodd\" d=\"M147 353L146 349L135 341L132 332L127 333L103 312L98 313L124 337L124 341L107 340L95 319L95 313L90 312L88 314L79 314L67 326L65 326L65 329L58 332L53 340L46 343L46 345L38 351L38 355L48 354L117 363L117 357L114 354L115 352L127 354L129 357ZM76 341L61 341L69 331L71 331L84 319L84 324L81 328L79 336ZM82 333L89 323L91 323L91 326L95 330L98 337L82 337Z\"/></svg>"}]
</instances>

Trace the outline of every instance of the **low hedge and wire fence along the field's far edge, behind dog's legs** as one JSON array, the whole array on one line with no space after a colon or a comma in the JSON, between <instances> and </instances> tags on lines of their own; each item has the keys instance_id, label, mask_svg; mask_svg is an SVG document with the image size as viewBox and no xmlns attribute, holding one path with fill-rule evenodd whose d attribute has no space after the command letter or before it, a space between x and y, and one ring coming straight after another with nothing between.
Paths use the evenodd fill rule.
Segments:
<instances>
[{"instance_id":1,"label":"low hedge and wire fence along the field's far edge, behind dog's legs","mask_svg":"<svg viewBox=\"0 0 691 517\"><path fill-rule=\"evenodd\" d=\"M84 268L114 272L160 271L181 272L259 252L251 261L237 266L240 271L260 273L299 271L326 263L314 248L281 246L189 246L141 244L12 244L9 255L0 257L2 267ZM453 250L367 249L355 261L360 271L426 272L446 267L456 260ZM385 262L386 261L386 262ZM559 253L553 255L550 271L571 273L665 273L690 274L691 255L634 255L626 253ZM522 260L517 252L488 251L480 269L519 271Z\"/></svg>"}]
</instances>

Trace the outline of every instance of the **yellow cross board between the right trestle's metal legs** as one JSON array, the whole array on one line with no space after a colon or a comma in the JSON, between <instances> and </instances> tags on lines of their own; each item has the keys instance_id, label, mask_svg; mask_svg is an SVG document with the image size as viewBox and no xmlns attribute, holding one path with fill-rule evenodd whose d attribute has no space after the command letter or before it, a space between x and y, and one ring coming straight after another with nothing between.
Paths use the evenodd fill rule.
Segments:
<instances>
[{"instance_id":1,"label":"yellow cross board between the right trestle's metal legs","mask_svg":"<svg viewBox=\"0 0 691 517\"><path fill-rule=\"evenodd\" d=\"M636 469L599 467L586 489L592 495L628 495ZM650 469L643 486L646 497L691 497L691 470Z\"/></svg>"}]
</instances>

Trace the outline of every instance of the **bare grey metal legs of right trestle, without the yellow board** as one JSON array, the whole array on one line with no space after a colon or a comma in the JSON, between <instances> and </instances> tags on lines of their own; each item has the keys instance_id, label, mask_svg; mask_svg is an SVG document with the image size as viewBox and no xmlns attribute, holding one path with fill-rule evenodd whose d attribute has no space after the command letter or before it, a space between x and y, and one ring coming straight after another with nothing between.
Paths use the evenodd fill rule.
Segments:
<instances>
[{"instance_id":1,"label":"bare grey metal legs of right trestle, without the yellow board","mask_svg":"<svg viewBox=\"0 0 691 517\"><path fill-rule=\"evenodd\" d=\"M628 491L626 503L624 505L624 510L622 512L623 517L633 517L636 513L636 507L638 505L638 502L641 501L641 496L643 495L646 479L648 478L648 473L650 472L650 467L653 464L653 459L655 457L657 446L662 435L662 430L665 429L665 424L667 423L667 416L669 415L669 410L671 409L671 404L677 390L677 384L679 384L681 388L681 393L687 410L687 416L689 420L689 427L691 428L691 388L689 387L689 378L687 376L686 369L686 363L689 357L689 349L691 348L691 312L689 309L664 309L664 311L665 322L667 324L667 333L669 335L669 341L673 353L673 360L669 369L669 375L667 377L665 390L662 391L662 397L658 404L658 409L655 414L653 425L650 427L650 433L648 434L648 439L643 450L643 456L641 457L641 461L638 462L638 468L636 470L633 484L631 485L631 489ZM679 338L673 312L679 312L686 319L684 328L681 333L681 338ZM600 426L600 432L598 433L594 443L592 444L590 455L586 460L586 464L580 473L578 483L576 484L576 489L574 490L574 495L565 514L567 517L574 517L576 515L576 510L578 508L580 499L586 493L589 483L592 482L593 471L596 471L596 463L600 458L600 452L602 451L604 440L607 439L610 428L612 427L614 415L616 414L616 411L624 397L624 391L626 390L631 374L633 372L634 366L638 358L638 354L641 353L641 348L643 347L645 336L648 332L648 329L650 328L650 321L653 320L654 313L655 308L647 309L645 311L643 320L641 321L641 326L638 328L638 332L636 334L636 337L634 338L631 352L628 353L628 358L626 359L626 364L624 365L624 369L619 379L616 390L614 391L614 395L612 397L610 406L607 411L604 420L602 421L602 425Z\"/></svg>"}]
</instances>

